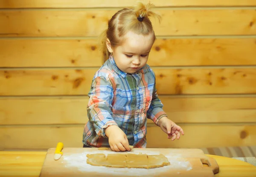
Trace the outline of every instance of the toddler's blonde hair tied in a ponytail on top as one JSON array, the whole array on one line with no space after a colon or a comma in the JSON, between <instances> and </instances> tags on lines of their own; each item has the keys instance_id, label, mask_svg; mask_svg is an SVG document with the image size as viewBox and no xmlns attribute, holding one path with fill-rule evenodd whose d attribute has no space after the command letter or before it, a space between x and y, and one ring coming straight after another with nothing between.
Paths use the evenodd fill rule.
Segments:
<instances>
[{"instance_id":1,"label":"toddler's blonde hair tied in a ponytail on top","mask_svg":"<svg viewBox=\"0 0 256 177\"><path fill-rule=\"evenodd\" d=\"M132 31L136 34L153 34L155 40L154 30L149 20L149 17L157 17L160 22L160 15L151 11L154 7L153 4L147 3L144 5L139 2L134 8L123 8L112 16L108 21L108 29L102 33L102 57L103 62L107 61L110 52L106 46L106 40L109 39L111 47L116 47L120 44L120 38L123 37L128 31ZM141 16L140 16L141 15ZM137 17L144 17L143 21L139 21Z\"/></svg>"}]
</instances>

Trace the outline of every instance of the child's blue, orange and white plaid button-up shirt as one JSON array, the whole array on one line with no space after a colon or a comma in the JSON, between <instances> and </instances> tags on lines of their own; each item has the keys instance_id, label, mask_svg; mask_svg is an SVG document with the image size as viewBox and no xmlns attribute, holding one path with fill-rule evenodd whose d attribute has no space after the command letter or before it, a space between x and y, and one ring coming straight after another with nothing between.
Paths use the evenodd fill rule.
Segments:
<instances>
[{"instance_id":1,"label":"child's blue, orange and white plaid button-up shirt","mask_svg":"<svg viewBox=\"0 0 256 177\"><path fill-rule=\"evenodd\" d=\"M145 65L136 73L124 73L112 55L95 73L88 96L89 121L83 133L87 146L110 147L105 129L117 125L131 146L145 148L147 118L157 124L167 116L157 96L153 70Z\"/></svg>"}]
</instances>

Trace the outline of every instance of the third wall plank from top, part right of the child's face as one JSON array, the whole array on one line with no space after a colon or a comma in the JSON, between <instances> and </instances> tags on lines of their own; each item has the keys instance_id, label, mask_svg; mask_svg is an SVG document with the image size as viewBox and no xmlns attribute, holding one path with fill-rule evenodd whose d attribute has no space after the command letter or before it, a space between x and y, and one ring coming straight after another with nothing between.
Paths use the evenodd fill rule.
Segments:
<instances>
[{"instance_id":1,"label":"third wall plank from top, part right of the child's face","mask_svg":"<svg viewBox=\"0 0 256 177\"><path fill-rule=\"evenodd\" d=\"M151 66L256 65L255 38L159 39Z\"/></svg>"}]
</instances>

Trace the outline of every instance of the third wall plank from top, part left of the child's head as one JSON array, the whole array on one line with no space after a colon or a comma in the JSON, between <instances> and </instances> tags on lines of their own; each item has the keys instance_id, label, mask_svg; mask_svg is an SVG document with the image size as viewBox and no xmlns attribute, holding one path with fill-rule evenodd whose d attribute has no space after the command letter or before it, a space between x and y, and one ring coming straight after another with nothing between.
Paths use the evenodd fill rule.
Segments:
<instances>
[{"instance_id":1,"label":"third wall plank from top, part left of the child's head","mask_svg":"<svg viewBox=\"0 0 256 177\"><path fill-rule=\"evenodd\" d=\"M0 39L0 67L96 67L97 39Z\"/></svg>"}]
</instances>

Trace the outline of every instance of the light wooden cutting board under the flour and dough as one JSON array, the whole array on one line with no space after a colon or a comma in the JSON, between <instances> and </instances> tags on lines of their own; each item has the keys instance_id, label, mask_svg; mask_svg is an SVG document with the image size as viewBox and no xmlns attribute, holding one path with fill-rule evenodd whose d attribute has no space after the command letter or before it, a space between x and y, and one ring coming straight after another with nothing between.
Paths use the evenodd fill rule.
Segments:
<instances>
[{"instance_id":1,"label":"light wooden cutting board under the flour and dough","mask_svg":"<svg viewBox=\"0 0 256 177\"><path fill-rule=\"evenodd\" d=\"M55 148L48 149L40 177L214 177L218 173L217 162L204 155L201 149L133 149L131 152L113 152L98 148L63 148L63 155L54 160ZM87 154L144 153L165 155L169 166L155 169L128 169L91 166L86 163ZM203 166L208 164L208 166Z\"/></svg>"}]
</instances>

